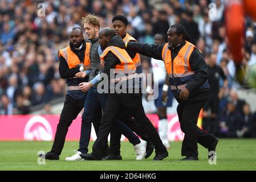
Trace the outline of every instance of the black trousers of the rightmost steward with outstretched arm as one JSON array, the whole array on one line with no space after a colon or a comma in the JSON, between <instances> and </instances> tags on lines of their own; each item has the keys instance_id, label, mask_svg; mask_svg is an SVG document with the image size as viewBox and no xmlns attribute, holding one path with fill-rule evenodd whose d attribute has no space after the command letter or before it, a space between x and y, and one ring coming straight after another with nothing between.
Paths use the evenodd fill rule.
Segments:
<instances>
[{"instance_id":1,"label":"black trousers of the rightmost steward with outstretched arm","mask_svg":"<svg viewBox=\"0 0 256 182\"><path fill-rule=\"evenodd\" d=\"M198 115L206 101L180 101L177 106L181 130L185 134L181 148L182 156L198 156L197 142L205 148L214 145L215 137L197 126Z\"/></svg>"}]
</instances>

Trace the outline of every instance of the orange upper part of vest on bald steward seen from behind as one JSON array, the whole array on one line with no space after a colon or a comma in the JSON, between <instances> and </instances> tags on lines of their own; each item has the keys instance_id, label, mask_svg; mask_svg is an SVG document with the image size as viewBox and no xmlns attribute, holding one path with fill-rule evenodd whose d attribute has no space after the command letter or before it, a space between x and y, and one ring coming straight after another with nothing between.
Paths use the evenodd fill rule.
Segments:
<instances>
[{"instance_id":1,"label":"orange upper part of vest on bald steward seen from behind","mask_svg":"<svg viewBox=\"0 0 256 182\"><path fill-rule=\"evenodd\" d=\"M117 64L115 67L115 73L135 73L136 67L135 63L133 63L131 57L125 51L125 49L116 47L116 46L109 46L105 48L103 53L100 55L101 62L104 64L104 57L107 53L111 51L118 59L120 60L120 64Z\"/></svg>"}]
</instances>

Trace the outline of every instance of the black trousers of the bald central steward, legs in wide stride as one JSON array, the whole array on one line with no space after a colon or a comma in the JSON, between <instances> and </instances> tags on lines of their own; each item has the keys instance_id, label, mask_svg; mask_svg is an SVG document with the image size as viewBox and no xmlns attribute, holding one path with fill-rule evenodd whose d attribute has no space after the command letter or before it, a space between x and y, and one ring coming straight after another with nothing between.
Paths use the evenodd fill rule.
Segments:
<instances>
[{"instance_id":1,"label":"black trousers of the bald central steward, legs in wide stride","mask_svg":"<svg viewBox=\"0 0 256 182\"><path fill-rule=\"evenodd\" d=\"M92 146L92 154L97 158L101 158L105 154L104 141L108 137L113 121L119 117L122 110L127 110L131 113L132 117L140 124L145 130L148 137L152 140L155 146L156 154L161 154L166 152L166 148L159 137L155 127L152 125L151 121L147 118L142 101L142 94L109 94L107 99L107 104L105 106L105 111L100 121L99 136Z\"/></svg>"}]
</instances>

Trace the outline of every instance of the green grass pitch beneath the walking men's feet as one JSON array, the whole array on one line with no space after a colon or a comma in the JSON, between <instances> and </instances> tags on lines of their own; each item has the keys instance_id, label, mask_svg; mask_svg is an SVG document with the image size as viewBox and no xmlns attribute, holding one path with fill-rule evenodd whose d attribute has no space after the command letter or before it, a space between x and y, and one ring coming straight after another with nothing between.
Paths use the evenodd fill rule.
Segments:
<instances>
[{"instance_id":1,"label":"green grass pitch beneath the walking men's feet","mask_svg":"<svg viewBox=\"0 0 256 182\"><path fill-rule=\"evenodd\" d=\"M155 152L149 159L136 161L132 144L121 142L123 160L66 162L64 159L74 154L78 144L66 142L60 160L39 165L38 151L49 151L52 142L0 142L0 170L256 170L256 139L220 139L216 165L208 163L208 151L200 144L199 161L180 161L181 142L170 142L169 158L162 161L153 161Z\"/></svg>"}]
</instances>

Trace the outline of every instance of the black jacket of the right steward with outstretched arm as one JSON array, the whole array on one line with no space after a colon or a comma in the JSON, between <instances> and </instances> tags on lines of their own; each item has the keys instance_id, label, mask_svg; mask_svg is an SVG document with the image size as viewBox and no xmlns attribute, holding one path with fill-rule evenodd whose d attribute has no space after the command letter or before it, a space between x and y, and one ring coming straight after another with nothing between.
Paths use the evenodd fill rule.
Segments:
<instances>
[{"instance_id":1,"label":"black jacket of the right steward with outstretched arm","mask_svg":"<svg viewBox=\"0 0 256 182\"><path fill-rule=\"evenodd\" d=\"M145 44L145 43L136 43L129 42L127 44L127 49L130 51L137 51L142 55L153 57L157 60L162 60L162 49L164 48L164 44ZM180 44L180 46L172 49L172 60L178 55L180 49L185 45L185 41ZM208 78L208 69L204 60L204 56L202 53L195 48L189 58L190 67L195 73L193 79L191 79L187 84L186 88L188 88L189 100L204 100L209 97L209 84L207 81ZM201 88L202 85L206 85ZM173 90L173 95L177 101L178 99L178 90Z\"/></svg>"}]
</instances>

